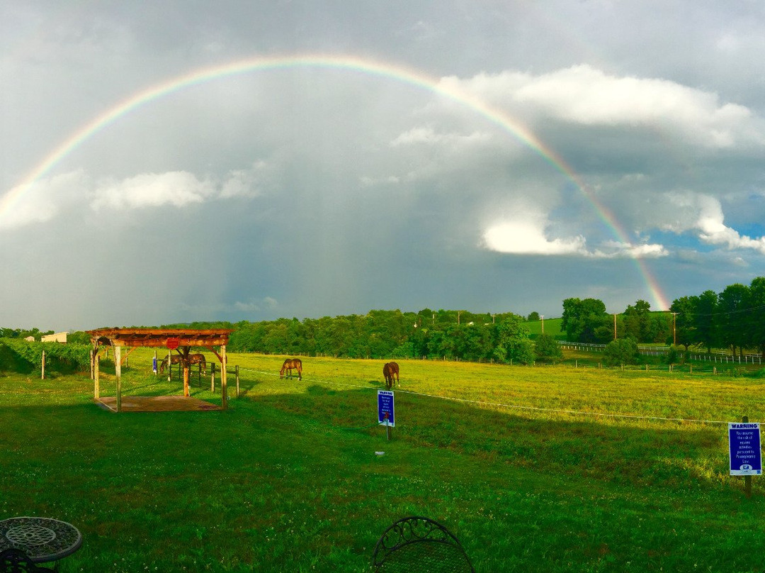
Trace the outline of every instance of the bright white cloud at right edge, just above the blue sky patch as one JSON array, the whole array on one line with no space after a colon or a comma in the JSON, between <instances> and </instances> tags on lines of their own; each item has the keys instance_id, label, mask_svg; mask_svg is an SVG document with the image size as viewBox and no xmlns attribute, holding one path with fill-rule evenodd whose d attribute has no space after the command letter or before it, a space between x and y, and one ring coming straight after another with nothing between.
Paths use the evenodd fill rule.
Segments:
<instances>
[{"instance_id":1,"label":"bright white cloud at right edge, just above the blue sky patch","mask_svg":"<svg viewBox=\"0 0 765 573\"><path fill-rule=\"evenodd\" d=\"M765 237L748 237L724 224L725 217L718 198L691 192L671 193L668 196L678 210L675 221L664 224L664 230L677 234L692 231L706 244L728 250L753 249L765 254Z\"/></svg>"}]
</instances>

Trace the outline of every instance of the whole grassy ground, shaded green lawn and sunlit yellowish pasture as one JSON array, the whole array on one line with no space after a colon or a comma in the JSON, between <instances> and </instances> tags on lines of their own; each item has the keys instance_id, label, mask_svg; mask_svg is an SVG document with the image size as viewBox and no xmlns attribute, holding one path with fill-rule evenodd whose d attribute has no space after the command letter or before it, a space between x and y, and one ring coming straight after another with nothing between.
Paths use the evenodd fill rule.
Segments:
<instances>
[{"instance_id":1,"label":"whole grassy ground, shaded green lawn and sunlit yellowish pasture","mask_svg":"<svg viewBox=\"0 0 765 573\"><path fill-rule=\"evenodd\" d=\"M126 395L180 391L130 361ZM765 570L762 486L728 476L721 423L763 419L760 379L400 361L388 441L382 361L281 362L229 355L225 412L112 414L86 376L0 377L0 519L76 524L64 573L368 571L406 515L483 572Z\"/></svg>"}]
</instances>

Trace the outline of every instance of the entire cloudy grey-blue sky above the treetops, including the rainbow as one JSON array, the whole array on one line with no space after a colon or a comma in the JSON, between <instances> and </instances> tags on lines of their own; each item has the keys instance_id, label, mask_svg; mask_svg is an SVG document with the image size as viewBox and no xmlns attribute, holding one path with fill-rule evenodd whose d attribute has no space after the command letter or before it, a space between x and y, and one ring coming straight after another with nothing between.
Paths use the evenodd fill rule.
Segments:
<instances>
[{"instance_id":1,"label":"entire cloudy grey-blue sky above the treetops, including the rainbow","mask_svg":"<svg viewBox=\"0 0 765 573\"><path fill-rule=\"evenodd\" d=\"M763 275L760 2L0 0L0 326Z\"/></svg>"}]
</instances>

